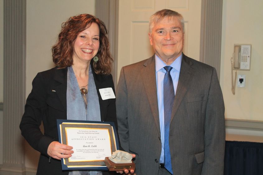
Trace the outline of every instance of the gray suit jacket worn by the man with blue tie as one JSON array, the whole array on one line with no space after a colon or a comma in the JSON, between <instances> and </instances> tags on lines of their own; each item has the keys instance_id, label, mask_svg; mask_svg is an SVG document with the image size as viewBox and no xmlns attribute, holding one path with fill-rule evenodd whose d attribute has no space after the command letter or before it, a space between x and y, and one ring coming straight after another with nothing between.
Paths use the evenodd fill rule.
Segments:
<instances>
[{"instance_id":1,"label":"gray suit jacket worn by the man with blue tie","mask_svg":"<svg viewBox=\"0 0 263 175\"><path fill-rule=\"evenodd\" d=\"M224 103L216 70L183 55L170 124L174 175L223 175ZM137 175L157 175L161 154L155 57L121 69L116 90L121 146Z\"/></svg>"}]
</instances>

